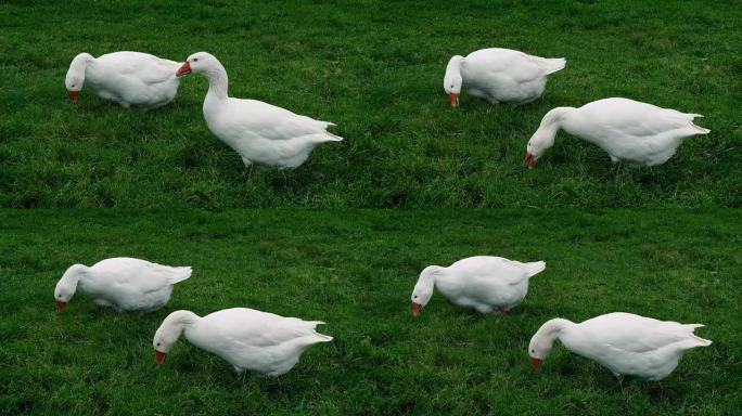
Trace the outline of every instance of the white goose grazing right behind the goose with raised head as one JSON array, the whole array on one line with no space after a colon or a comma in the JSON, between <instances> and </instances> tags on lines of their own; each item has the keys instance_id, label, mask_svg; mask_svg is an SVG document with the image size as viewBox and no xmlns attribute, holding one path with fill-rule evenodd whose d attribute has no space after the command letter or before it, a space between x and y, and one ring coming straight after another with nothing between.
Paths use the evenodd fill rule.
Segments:
<instances>
[{"instance_id":1,"label":"white goose grazing right behind the goose with raised head","mask_svg":"<svg viewBox=\"0 0 742 416\"><path fill-rule=\"evenodd\" d=\"M178 93L179 80L175 73L179 67L175 61L149 53L125 51L99 57L80 53L69 64L64 83L74 103L87 83L100 98L125 108L156 108L172 101Z\"/></svg>"}]
</instances>

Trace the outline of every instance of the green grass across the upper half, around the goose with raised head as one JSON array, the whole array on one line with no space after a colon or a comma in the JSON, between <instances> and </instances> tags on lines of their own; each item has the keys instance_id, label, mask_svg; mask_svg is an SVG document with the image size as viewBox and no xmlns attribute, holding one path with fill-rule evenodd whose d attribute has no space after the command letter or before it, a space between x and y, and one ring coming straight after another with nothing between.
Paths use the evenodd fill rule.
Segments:
<instances>
[{"instance_id":1,"label":"green grass across the upper half, around the goose with raised head","mask_svg":"<svg viewBox=\"0 0 742 416\"><path fill-rule=\"evenodd\" d=\"M0 4L3 207L739 207L742 9L734 1ZM565 56L521 107L443 92L453 54ZM206 50L231 94L338 125L342 144L289 172L250 172L208 131L205 80L123 110L63 87L72 57ZM701 113L707 136L654 169L618 168L561 133L540 166L526 142L555 106L628 96Z\"/></svg>"}]
</instances>

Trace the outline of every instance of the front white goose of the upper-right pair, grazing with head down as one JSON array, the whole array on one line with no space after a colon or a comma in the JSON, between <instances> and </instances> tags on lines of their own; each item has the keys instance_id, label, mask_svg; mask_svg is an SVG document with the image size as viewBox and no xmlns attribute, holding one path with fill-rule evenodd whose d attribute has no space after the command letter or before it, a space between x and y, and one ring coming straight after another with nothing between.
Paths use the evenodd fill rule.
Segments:
<instances>
[{"instance_id":1,"label":"front white goose of the upper-right pair, grazing with head down","mask_svg":"<svg viewBox=\"0 0 742 416\"><path fill-rule=\"evenodd\" d=\"M604 99L579 108L556 107L543 116L528 141L525 165L533 169L554 145L559 129L598 145L613 162L662 165L675 155L686 138L708 134L695 126L699 114L686 114L628 99Z\"/></svg>"}]
</instances>

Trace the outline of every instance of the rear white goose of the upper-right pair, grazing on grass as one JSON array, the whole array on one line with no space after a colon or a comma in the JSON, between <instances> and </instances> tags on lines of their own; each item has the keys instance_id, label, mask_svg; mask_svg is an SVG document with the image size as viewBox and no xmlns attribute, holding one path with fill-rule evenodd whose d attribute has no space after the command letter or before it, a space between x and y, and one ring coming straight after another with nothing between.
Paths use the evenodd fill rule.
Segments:
<instances>
[{"instance_id":1,"label":"rear white goose of the upper-right pair, grazing on grass","mask_svg":"<svg viewBox=\"0 0 742 416\"><path fill-rule=\"evenodd\" d=\"M444 90L453 107L459 106L462 88L492 104L525 104L541 96L547 77L565 65L563 57L538 57L500 48L481 49L465 57L451 57L446 66Z\"/></svg>"}]
</instances>

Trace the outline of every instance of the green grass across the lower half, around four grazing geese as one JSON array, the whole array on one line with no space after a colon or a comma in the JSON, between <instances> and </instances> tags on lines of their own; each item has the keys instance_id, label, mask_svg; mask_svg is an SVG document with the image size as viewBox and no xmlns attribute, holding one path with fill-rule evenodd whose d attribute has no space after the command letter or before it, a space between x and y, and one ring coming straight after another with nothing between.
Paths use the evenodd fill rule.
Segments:
<instances>
[{"instance_id":1,"label":"green grass across the lower half, around four grazing geese","mask_svg":"<svg viewBox=\"0 0 742 416\"><path fill-rule=\"evenodd\" d=\"M735 414L742 406L739 211L4 210L0 413L9 415ZM436 294L410 315L426 264L472 255L548 262L511 314ZM170 303L117 314L53 288L74 262L135 256L192 265ZM323 320L335 337L280 379L240 377L181 339L151 342L177 309L251 307ZM541 323L627 311L704 323L713 346L662 382L627 378L558 346L540 374Z\"/></svg>"}]
</instances>

